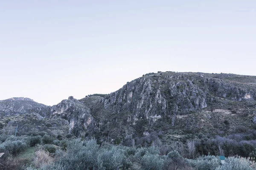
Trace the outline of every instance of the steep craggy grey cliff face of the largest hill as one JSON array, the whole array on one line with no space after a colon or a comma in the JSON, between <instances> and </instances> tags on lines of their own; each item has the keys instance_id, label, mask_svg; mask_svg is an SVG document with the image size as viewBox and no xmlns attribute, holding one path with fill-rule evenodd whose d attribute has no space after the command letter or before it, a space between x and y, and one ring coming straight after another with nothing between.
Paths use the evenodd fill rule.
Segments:
<instances>
[{"instance_id":1,"label":"steep craggy grey cliff face of the largest hill","mask_svg":"<svg viewBox=\"0 0 256 170\"><path fill-rule=\"evenodd\" d=\"M146 75L105 96L104 108L116 114L132 113L132 119L137 120L152 116L175 117L207 105L223 105L218 101L220 98L231 101L256 99L255 84L230 81L234 77L236 75L202 73Z\"/></svg>"}]
</instances>

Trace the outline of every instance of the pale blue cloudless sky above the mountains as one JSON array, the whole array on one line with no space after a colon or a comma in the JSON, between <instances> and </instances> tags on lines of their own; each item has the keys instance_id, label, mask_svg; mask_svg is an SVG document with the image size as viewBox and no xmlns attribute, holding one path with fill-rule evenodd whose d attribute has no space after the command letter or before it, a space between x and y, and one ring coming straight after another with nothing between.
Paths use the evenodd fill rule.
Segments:
<instances>
[{"instance_id":1,"label":"pale blue cloudless sky above the mountains","mask_svg":"<svg viewBox=\"0 0 256 170\"><path fill-rule=\"evenodd\" d=\"M0 100L56 105L149 72L255 65L256 0L0 0Z\"/></svg>"}]
</instances>

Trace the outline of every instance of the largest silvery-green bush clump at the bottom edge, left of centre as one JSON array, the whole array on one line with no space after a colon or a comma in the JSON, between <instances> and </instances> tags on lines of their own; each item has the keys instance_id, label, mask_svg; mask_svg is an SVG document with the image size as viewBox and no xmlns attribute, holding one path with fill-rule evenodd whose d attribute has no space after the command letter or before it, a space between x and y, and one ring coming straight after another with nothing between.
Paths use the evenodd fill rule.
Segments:
<instances>
[{"instance_id":1,"label":"largest silvery-green bush clump at the bottom edge, left of centre","mask_svg":"<svg viewBox=\"0 0 256 170\"><path fill-rule=\"evenodd\" d=\"M67 154L56 153L56 162L47 167L49 170L61 164L63 170L116 170L128 169L131 161L127 158L125 147L105 144L102 147L95 139L81 141L80 139L67 142ZM54 168L53 168L54 169Z\"/></svg>"}]
</instances>

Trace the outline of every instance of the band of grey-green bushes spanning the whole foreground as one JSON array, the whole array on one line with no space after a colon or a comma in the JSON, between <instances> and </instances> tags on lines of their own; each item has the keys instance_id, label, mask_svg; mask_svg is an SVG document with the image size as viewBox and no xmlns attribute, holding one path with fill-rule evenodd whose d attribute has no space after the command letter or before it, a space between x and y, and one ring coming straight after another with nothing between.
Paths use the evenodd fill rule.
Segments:
<instances>
[{"instance_id":1,"label":"band of grey-green bushes spanning the whole foreground","mask_svg":"<svg viewBox=\"0 0 256 170\"><path fill-rule=\"evenodd\" d=\"M95 139L58 140L52 136L1 136L0 170L255 170L253 157L230 156L224 165L218 156L189 156L182 145L127 147ZM193 142L190 144L194 144ZM35 148L32 160L19 157ZM163 151L164 150L164 151ZM186 150L185 150L186 151ZM190 151L193 154L193 151ZM195 157L195 158L193 158Z\"/></svg>"}]
</instances>

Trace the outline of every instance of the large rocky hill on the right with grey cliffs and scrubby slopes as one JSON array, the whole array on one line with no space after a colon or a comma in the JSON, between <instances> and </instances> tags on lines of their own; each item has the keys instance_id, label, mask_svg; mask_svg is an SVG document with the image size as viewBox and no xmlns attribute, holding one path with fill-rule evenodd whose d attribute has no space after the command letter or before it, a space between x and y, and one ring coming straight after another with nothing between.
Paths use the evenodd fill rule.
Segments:
<instances>
[{"instance_id":1,"label":"large rocky hill on the right with grey cliffs and scrubby slopes","mask_svg":"<svg viewBox=\"0 0 256 170\"><path fill-rule=\"evenodd\" d=\"M105 96L80 101L91 110L102 134L128 136L181 130L230 133L256 122L256 77L235 74L145 74ZM226 120L226 124L224 123ZM104 130L103 130L104 129Z\"/></svg>"}]
</instances>

